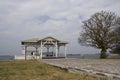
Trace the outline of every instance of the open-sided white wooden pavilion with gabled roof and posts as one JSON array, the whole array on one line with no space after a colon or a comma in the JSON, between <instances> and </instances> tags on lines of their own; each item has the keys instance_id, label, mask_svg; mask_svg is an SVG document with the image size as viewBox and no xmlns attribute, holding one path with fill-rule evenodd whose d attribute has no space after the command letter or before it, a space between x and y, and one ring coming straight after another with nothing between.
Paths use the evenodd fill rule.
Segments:
<instances>
[{"instance_id":1,"label":"open-sided white wooden pavilion with gabled roof and posts","mask_svg":"<svg viewBox=\"0 0 120 80\"><path fill-rule=\"evenodd\" d=\"M60 47L64 47L64 58L66 58L66 49L68 42L58 40L51 36L45 38L32 38L28 40L21 41L22 52L25 55L25 60L27 59L27 52L29 47L35 49L35 53L39 54L39 58L63 58L60 56ZM43 48L46 48L47 52L43 52ZM52 52L49 52L49 49L52 48ZM45 55L45 56L43 56Z\"/></svg>"}]
</instances>

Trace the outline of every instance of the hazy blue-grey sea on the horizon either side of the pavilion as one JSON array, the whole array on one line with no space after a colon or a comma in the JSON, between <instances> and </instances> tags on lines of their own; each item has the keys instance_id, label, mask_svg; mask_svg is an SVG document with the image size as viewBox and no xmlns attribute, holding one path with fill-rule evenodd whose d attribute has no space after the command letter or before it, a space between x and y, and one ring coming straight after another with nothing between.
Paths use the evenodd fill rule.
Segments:
<instances>
[{"instance_id":1,"label":"hazy blue-grey sea on the horizon either side of the pavilion","mask_svg":"<svg viewBox=\"0 0 120 80\"><path fill-rule=\"evenodd\" d=\"M99 54L67 54L67 58L97 59ZM0 55L0 60L14 60L14 55Z\"/></svg>"}]
</instances>

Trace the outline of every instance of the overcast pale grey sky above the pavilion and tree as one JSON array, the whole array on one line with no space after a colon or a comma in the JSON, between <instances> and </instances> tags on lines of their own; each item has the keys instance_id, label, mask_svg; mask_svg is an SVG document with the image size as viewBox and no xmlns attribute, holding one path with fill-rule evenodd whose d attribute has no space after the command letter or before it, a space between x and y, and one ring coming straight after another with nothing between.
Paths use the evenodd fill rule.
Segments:
<instances>
[{"instance_id":1,"label":"overcast pale grey sky above the pavilion and tree","mask_svg":"<svg viewBox=\"0 0 120 80\"><path fill-rule=\"evenodd\" d=\"M119 15L120 0L0 0L0 55L21 54L21 40L46 36L68 41L68 53L97 53L77 39L81 22L101 10Z\"/></svg>"}]
</instances>

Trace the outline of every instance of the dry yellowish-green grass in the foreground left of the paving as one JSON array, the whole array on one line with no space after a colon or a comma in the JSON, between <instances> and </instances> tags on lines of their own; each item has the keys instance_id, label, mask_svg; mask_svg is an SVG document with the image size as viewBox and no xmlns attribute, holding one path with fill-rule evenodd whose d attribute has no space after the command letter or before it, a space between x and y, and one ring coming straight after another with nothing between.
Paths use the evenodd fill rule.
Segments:
<instances>
[{"instance_id":1,"label":"dry yellowish-green grass in the foreground left of the paving","mask_svg":"<svg viewBox=\"0 0 120 80\"><path fill-rule=\"evenodd\" d=\"M0 61L0 80L105 80L69 73L40 61Z\"/></svg>"}]
</instances>

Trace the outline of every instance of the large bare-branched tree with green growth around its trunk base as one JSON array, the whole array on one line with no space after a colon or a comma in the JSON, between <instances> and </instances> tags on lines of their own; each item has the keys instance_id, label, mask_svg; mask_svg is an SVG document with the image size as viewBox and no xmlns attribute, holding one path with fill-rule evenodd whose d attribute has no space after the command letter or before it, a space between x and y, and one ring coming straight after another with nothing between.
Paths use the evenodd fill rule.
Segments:
<instances>
[{"instance_id":1,"label":"large bare-branched tree with green growth around its trunk base","mask_svg":"<svg viewBox=\"0 0 120 80\"><path fill-rule=\"evenodd\" d=\"M114 28L117 16L115 13L101 11L83 21L83 31L78 41L80 44L101 49L100 58L106 58L106 51L114 41Z\"/></svg>"}]
</instances>

